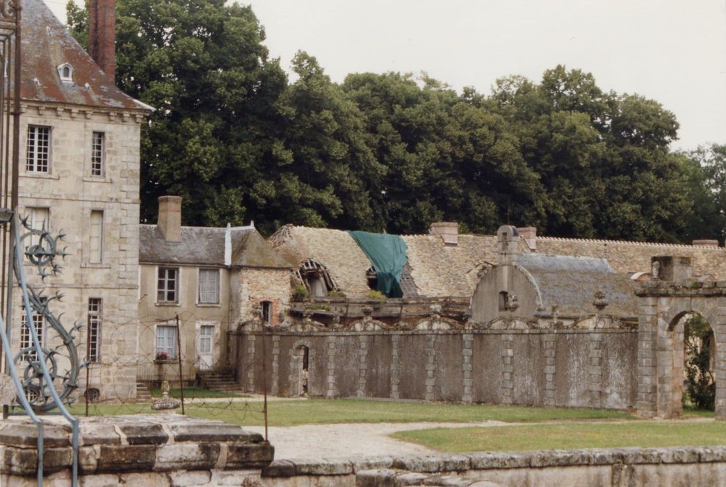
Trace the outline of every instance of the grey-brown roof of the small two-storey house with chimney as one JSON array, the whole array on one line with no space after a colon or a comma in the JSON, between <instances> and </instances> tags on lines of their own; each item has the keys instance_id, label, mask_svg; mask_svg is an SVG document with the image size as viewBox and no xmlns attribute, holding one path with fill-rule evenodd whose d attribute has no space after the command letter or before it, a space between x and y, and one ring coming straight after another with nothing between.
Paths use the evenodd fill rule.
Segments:
<instances>
[{"instance_id":1,"label":"grey-brown roof of the small two-storey house with chimney","mask_svg":"<svg viewBox=\"0 0 726 487\"><path fill-rule=\"evenodd\" d=\"M156 225L139 225L139 262L224 266L226 228L181 227L181 241L164 240ZM232 267L290 268L254 228L232 228Z\"/></svg>"}]
</instances>

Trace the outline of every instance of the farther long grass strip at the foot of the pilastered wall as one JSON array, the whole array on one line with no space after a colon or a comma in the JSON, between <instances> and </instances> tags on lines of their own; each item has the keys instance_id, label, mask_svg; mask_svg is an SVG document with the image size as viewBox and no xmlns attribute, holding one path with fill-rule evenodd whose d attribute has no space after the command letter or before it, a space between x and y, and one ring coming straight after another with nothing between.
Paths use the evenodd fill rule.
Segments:
<instances>
[{"instance_id":1,"label":"farther long grass strip at the foot of the pilastered wall","mask_svg":"<svg viewBox=\"0 0 726 487\"><path fill-rule=\"evenodd\" d=\"M73 411L83 413L85 406L73 406ZM144 404L97 404L91 405L91 414L148 413L151 408ZM203 406L189 404L189 416L219 419L245 425L264 424L262 403L237 401L206 403ZM401 403L393 401L359 401L355 399L311 399L308 401L270 401L268 418L270 426L295 426L298 424L330 423L380 423L380 422L547 422L586 421L592 419L633 419L625 411L579 408L529 408L523 406L487 406L479 404L449 403Z\"/></svg>"}]
</instances>

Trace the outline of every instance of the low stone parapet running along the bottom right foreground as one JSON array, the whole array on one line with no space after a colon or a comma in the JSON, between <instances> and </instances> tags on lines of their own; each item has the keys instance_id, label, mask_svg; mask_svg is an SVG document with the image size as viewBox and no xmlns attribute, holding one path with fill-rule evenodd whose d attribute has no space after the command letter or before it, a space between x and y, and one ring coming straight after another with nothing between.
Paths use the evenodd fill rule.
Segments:
<instances>
[{"instance_id":1,"label":"low stone parapet running along the bottom right foreground","mask_svg":"<svg viewBox=\"0 0 726 487\"><path fill-rule=\"evenodd\" d=\"M655 476L654 476L655 475ZM278 460L262 470L272 486L646 486L722 485L726 447L603 448ZM664 485L661 483L660 485Z\"/></svg>"}]
</instances>

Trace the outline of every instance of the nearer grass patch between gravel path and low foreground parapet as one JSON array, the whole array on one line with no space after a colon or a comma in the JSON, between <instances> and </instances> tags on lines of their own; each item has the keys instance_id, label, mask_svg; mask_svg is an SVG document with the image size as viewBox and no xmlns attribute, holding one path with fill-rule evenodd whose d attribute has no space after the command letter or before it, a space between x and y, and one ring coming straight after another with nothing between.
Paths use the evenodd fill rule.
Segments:
<instances>
[{"instance_id":1,"label":"nearer grass patch between gravel path and low foreground parapet","mask_svg":"<svg viewBox=\"0 0 726 487\"><path fill-rule=\"evenodd\" d=\"M393 438L440 451L705 446L726 444L726 422L634 421L437 428L398 432Z\"/></svg>"}]
</instances>

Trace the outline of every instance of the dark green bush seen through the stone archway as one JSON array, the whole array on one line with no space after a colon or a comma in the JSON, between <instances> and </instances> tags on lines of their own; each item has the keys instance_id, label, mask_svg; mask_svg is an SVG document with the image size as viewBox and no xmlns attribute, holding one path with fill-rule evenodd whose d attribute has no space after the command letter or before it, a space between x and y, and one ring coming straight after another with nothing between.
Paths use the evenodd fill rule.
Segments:
<instances>
[{"instance_id":1,"label":"dark green bush seen through the stone archway","mask_svg":"<svg viewBox=\"0 0 726 487\"><path fill-rule=\"evenodd\" d=\"M711 372L711 346L714 331L701 315L686 321L685 342L685 391L683 402L690 401L697 409L713 411L716 401L716 383ZM687 404L684 404L688 406Z\"/></svg>"}]
</instances>

